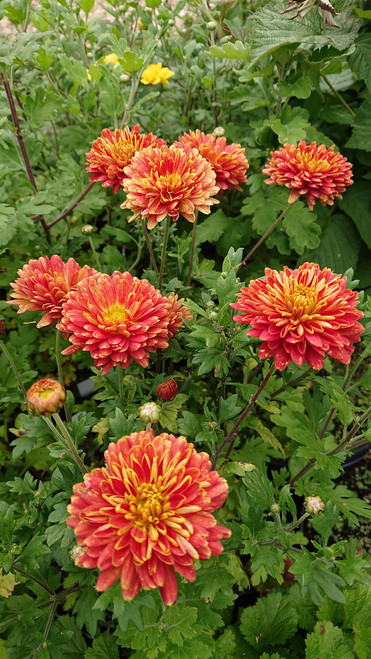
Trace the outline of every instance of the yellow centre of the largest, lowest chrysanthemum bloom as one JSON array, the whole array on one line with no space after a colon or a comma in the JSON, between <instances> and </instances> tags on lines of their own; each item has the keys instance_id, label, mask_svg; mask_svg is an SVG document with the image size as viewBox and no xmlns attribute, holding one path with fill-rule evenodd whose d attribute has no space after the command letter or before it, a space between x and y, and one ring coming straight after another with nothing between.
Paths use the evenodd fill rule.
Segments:
<instances>
[{"instance_id":1,"label":"yellow centre of the largest, lowest chrysanthemum bloom","mask_svg":"<svg viewBox=\"0 0 371 659\"><path fill-rule=\"evenodd\" d=\"M137 493L130 497L130 512L135 526L148 530L153 524L156 525L168 517L168 497L164 489L163 485L142 483Z\"/></svg>"}]
</instances>

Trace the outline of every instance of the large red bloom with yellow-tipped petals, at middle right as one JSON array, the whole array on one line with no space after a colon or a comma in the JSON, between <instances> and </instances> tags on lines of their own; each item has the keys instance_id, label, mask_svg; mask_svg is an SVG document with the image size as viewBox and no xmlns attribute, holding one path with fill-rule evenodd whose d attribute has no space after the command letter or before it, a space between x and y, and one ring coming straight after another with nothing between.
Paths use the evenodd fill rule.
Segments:
<instances>
[{"instance_id":1,"label":"large red bloom with yellow-tipped petals, at middle right","mask_svg":"<svg viewBox=\"0 0 371 659\"><path fill-rule=\"evenodd\" d=\"M237 294L234 309L242 312L234 320L251 325L250 336L262 339L259 357L274 356L283 371L291 361L305 361L315 369L323 358L348 364L364 328L358 322L362 311L358 293L346 288L346 277L316 263L304 263L295 270L265 269L264 279L255 279Z\"/></svg>"}]
</instances>

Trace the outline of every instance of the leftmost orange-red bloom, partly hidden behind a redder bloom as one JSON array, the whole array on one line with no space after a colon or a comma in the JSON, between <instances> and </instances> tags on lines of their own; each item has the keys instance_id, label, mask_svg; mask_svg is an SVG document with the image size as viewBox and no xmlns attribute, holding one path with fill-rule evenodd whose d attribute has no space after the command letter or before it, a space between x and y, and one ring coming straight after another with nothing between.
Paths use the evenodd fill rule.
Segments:
<instances>
[{"instance_id":1,"label":"leftmost orange-red bloom, partly hidden behind a redder bloom","mask_svg":"<svg viewBox=\"0 0 371 659\"><path fill-rule=\"evenodd\" d=\"M64 263L60 256L53 254L31 259L18 270L19 279L13 284L14 292L10 294L13 300L8 304L19 306L17 313L25 311L44 311L44 315L36 327L50 325L62 318L62 305L77 284L96 273L94 268L85 265L82 268L75 259Z\"/></svg>"}]
</instances>

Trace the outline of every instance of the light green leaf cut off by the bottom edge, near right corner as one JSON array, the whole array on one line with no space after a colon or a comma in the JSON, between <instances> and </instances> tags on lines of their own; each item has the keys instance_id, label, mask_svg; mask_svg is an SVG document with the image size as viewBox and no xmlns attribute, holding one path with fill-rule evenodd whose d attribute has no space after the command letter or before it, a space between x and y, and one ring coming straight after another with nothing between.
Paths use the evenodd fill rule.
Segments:
<instances>
[{"instance_id":1,"label":"light green leaf cut off by the bottom edge, near right corner","mask_svg":"<svg viewBox=\"0 0 371 659\"><path fill-rule=\"evenodd\" d=\"M313 634L305 641L306 659L354 659L340 627L329 620L317 622Z\"/></svg>"}]
</instances>

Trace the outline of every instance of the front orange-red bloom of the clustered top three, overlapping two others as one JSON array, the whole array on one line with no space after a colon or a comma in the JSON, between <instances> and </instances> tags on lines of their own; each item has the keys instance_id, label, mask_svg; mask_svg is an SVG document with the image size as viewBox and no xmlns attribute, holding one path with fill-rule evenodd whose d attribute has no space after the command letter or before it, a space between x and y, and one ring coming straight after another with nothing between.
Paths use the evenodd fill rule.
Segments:
<instances>
[{"instance_id":1,"label":"front orange-red bloom of the clustered top three, overlapping two others","mask_svg":"<svg viewBox=\"0 0 371 659\"><path fill-rule=\"evenodd\" d=\"M218 192L215 174L196 149L148 147L134 156L125 174L127 199L121 208L134 212L129 222L138 215L147 218L149 229L165 217L175 222L183 215L194 222L196 210L208 215L210 206L219 203L213 199Z\"/></svg>"}]
</instances>

